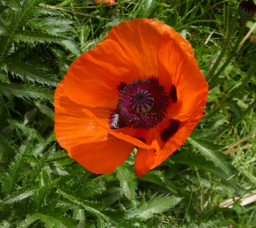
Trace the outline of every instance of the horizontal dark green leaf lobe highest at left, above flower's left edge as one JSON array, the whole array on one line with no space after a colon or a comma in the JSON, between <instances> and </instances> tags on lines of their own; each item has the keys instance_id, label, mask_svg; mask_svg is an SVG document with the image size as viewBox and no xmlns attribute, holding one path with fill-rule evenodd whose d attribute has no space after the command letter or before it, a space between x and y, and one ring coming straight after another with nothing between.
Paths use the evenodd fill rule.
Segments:
<instances>
[{"instance_id":1,"label":"horizontal dark green leaf lobe highest at left, above flower's left edge","mask_svg":"<svg viewBox=\"0 0 256 228\"><path fill-rule=\"evenodd\" d=\"M40 31L18 30L13 35L13 40L16 42L23 41L27 43L57 43L66 39L67 37L50 35L46 32Z\"/></svg>"}]
</instances>

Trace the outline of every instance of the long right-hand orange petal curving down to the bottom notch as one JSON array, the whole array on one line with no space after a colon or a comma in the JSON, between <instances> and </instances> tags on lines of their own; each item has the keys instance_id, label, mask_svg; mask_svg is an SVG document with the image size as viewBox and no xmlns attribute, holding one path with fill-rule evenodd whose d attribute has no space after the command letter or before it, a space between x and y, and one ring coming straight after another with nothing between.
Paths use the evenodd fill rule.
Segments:
<instances>
[{"instance_id":1,"label":"long right-hand orange petal curving down to the bottom notch","mask_svg":"<svg viewBox=\"0 0 256 228\"><path fill-rule=\"evenodd\" d=\"M164 32L160 39L158 63L159 81L165 86L168 94L171 86L174 85L178 100L170 102L166 118L155 129L155 140L160 149L155 151L138 149L135 158L138 176L143 176L158 166L186 141L203 115L208 93L208 84L194 56L181 47L179 41L173 39L169 32ZM168 78L171 79L171 85ZM180 126L174 135L163 142L160 137L161 132L171 119L181 121Z\"/></svg>"}]
</instances>

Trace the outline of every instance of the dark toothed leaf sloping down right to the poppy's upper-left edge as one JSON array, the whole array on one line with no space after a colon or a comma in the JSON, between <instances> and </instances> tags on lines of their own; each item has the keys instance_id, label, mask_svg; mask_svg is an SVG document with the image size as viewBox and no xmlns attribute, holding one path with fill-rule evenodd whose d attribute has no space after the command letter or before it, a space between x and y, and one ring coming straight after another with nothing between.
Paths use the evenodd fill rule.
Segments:
<instances>
[{"instance_id":1,"label":"dark toothed leaf sloping down right to the poppy's upper-left edge","mask_svg":"<svg viewBox=\"0 0 256 228\"><path fill-rule=\"evenodd\" d=\"M36 81L49 86L57 86L59 84L59 80L50 74L34 69L32 66L25 63L7 58L3 59L3 63L6 66L6 71L9 71L13 75L17 75L22 79L27 78L33 82Z\"/></svg>"}]
</instances>

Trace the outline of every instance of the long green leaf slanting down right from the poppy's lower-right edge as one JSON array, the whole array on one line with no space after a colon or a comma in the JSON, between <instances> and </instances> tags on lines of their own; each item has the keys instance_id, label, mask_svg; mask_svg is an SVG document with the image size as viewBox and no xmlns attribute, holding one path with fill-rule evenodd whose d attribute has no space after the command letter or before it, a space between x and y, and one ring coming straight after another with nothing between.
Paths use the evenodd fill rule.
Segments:
<instances>
[{"instance_id":1,"label":"long green leaf slanting down right from the poppy's lower-right edge","mask_svg":"<svg viewBox=\"0 0 256 228\"><path fill-rule=\"evenodd\" d=\"M187 139L195 148L197 148L200 153L209 158L215 163L216 166L220 167L228 176L233 176L236 173L236 168L227 161L227 156L222 152L212 151L205 147L199 139L192 139L188 137Z\"/></svg>"}]
</instances>

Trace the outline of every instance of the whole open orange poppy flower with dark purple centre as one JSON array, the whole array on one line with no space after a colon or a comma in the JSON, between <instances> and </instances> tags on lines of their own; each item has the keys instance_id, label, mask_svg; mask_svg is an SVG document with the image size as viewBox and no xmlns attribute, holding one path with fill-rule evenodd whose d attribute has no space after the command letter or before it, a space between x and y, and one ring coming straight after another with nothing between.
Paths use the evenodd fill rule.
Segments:
<instances>
[{"instance_id":1,"label":"whole open orange poppy flower with dark purple centre","mask_svg":"<svg viewBox=\"0 0 256 228\"><path fill-rule=\"evenodd\" d=\"M55 134L82 166L108 174L135 146L139 177L183 144L203 115L208 84L187 40L133 19L75 60L55 92Z\"/></svg>"}]
</instances>

